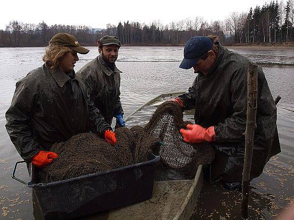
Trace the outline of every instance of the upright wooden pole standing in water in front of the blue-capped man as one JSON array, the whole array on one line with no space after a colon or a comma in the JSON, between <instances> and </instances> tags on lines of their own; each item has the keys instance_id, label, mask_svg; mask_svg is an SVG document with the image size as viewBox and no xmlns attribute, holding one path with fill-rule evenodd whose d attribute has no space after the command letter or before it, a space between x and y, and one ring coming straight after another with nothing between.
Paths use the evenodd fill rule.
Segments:
<instances>
[{"instance_id":1,"label":"upright wooden pole standing in water in front of the blue-capped man","mask_svg":"<svg viewBox=\"0 0 294 220\"><path fill-rule=\"evenodd\" d=\"M245 130L245 157L242 178L242 218L248 219L248 198L250 169L253 153L254 131L256 129L257 109L257 65L248 64L247 70L247 121Z\"/></svg>"}]
</instances>

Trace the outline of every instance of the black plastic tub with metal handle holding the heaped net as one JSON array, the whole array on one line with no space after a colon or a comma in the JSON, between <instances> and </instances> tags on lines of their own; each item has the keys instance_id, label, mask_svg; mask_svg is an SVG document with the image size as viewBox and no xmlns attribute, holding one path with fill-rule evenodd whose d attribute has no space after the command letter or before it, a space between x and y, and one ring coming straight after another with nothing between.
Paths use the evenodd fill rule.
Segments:
<instances>
[{"instance_id":1,"label":"black plastic tub with metal handle holding the heaped net","mask_svg":"<svg viewBox=\"0 0 294 220\"><path fill-rule=\"evenodd\" d=\"M107 172L47 184L37 183L37 171L33 168L31 181L26 185L33 189L45 220L78 218L151 198L155 163L160 157L150 153L148 159Z\"/></svg>"}]
</instances>

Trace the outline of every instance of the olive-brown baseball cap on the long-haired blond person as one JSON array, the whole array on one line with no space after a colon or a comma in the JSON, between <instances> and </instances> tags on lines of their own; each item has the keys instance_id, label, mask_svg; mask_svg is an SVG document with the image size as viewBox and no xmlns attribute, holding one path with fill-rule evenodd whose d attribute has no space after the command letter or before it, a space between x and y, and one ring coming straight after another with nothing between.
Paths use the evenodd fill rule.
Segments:
<instances>
[{"instance_id":1,"label":"olive-brown baseball cap on the long-haired blond person","mask_svg":"<svg viewBox=\"0 0 294 220\"><path fill-rule=\"evenodd\" d=\"M90 51L90 50L86 49L85 47L80 46L80 44L77 42L76 38L73 37L73 35L68 34L68 33L55 34L51 38L51 40L49 41L49 44L68 46L80 54L87 54Z\"/></svg>"}]
</instances>

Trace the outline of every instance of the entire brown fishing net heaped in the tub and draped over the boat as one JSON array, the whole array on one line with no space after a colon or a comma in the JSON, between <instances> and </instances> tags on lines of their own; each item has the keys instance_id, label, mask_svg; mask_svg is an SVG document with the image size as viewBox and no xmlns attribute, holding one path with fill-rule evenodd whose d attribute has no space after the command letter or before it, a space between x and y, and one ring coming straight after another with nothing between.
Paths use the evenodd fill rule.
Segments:
<instances>
[{"instance_id":1,"label":"entire brown fishing net heaped in the tub and draped over the boat","mask_svg":"<svg viewBox=\"0 0 294 220\"><path fill-rule=\"evenodd\" d=\"M112 146L94 133L81 133L66 142L55 143L50 151L58 154L39 172L40 182L48 183L101 171L108 171L148 160L149 152L161 156L156 167L156 179L193 178L198 165L214 158L210 145L188 144L179 130L189 122L172 101L163 103L153 113L145 128L118 128L117 143ZM164 143L159 147L159 140ZM166 177L171 176L172 178ZM183 177L182 174L186 175Z\"/></svg>"}]
</instances>

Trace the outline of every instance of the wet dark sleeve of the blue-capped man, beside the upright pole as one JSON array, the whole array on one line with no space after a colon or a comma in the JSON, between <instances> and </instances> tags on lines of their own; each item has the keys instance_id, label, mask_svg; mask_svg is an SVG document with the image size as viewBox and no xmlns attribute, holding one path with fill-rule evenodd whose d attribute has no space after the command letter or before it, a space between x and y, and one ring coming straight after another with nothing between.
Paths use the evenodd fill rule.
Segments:
<instances>
[{"instance_id":1,"label":"wet dark sleeve of the blue-capped man, beside the upright pole","mask_svg":"<svg viewBox=\"0 0 294 220\"><path fill-rule=\"evenodd\" d=\"M236 140L244 136L247 113L247 67L235 71L230 90L233 113L215 126L217 142Z\"/></svg>"}]
</instances>

